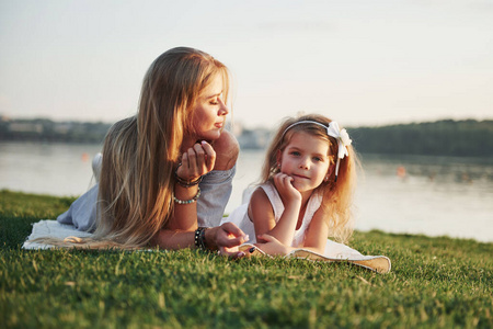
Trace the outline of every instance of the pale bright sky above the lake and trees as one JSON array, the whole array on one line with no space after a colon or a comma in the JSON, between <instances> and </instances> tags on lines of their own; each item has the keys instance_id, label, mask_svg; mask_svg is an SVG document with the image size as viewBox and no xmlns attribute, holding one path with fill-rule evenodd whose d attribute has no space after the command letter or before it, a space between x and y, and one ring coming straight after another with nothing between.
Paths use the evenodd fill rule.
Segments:
<instances>
[{"instance_id":1,"label":"pale bright sky above the lake and trees","mask_svg":"<svg viewBox=\"0 0 493 329\"><path fill-rule=\"evenodd\" d=\"M114 122L164 50L233 73L234 121L493 118L493 1L0 0L0 114Z\"/></svg>"}]
</instances>

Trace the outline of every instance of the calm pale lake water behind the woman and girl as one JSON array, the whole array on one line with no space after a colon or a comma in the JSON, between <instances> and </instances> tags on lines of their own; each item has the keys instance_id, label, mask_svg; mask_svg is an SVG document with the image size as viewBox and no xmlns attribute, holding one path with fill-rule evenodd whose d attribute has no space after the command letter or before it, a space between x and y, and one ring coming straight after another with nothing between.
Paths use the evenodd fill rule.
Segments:
<instances>
[{"instance_id":1,"label":"calm pale lake water behind the woman and girl","mask_svg":"<svg viewBox=\"0 0 493 329\"><path fill-rule=\"evenodd\" d=\"M99 145L0 143L0 189L80 195ZM263 151L244 150L227 206L256 181ZM362 155L355 227L493 242L493 159Z\"/></svg>"}]
</instances>

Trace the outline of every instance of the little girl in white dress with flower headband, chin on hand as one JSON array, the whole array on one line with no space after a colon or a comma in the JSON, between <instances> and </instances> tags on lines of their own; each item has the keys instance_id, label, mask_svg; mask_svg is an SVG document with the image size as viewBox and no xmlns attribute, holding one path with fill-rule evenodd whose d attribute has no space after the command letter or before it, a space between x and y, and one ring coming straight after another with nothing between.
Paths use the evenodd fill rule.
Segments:
<instances>
[{"instance_id":1,"label":"little girl in white dress with flower headband, chin on hand","mask_svg":"<svg viewBox=\"0 0 493 329\"><path fill-rule=\"evenodd\" d=\"M285 121L268 148L262 183L223 222L237 224L268 254L303 248L331 258L362 254L328 240L352 235L356 155L345 129L322 115Z\"/></svg>"}]
</instances>

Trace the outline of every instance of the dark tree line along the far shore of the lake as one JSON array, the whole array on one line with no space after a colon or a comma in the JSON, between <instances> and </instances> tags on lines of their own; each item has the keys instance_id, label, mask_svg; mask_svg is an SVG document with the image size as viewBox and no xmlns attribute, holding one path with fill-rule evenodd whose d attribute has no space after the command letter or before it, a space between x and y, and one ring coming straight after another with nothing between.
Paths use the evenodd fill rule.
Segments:
<instances>
[{"instance_id":1,"label":"dark tree line along the far shore of the lake","mask_svg":"<svg viewBox=\"0 0 493 329\"><path fill-rule=\"evenodd\" d=\"M102 143L106 123L0 118L0 141ZM362 154L493 157L493 121L443 120L377 127L348 127ZM238 136L240 143L245 138ZM252 136L249 136L251 139ZM257 136L265 139L265 135ZM265 144L265 143L263 143Z\"/></svg>"}]
</instances>

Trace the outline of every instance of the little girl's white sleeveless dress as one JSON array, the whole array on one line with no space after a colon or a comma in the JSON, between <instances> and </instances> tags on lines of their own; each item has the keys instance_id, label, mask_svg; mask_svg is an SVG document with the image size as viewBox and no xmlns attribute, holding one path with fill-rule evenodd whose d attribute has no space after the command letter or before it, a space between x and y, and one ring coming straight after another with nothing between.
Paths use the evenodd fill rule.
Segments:
<instances>
[{"instance_id":1,"label":"little girl's white sleeveless dress","mask_svg":"<svg viewBox=\"0 0 493 329\"><path fill-rule=\"evenodd\" d=\"M267 194L268 201L271 202L271 205L274 209L275 220L277 223L284 212L284 204L283 201L280 200L279 193L277 192L275 186L270 182L260 185L260 188L262 188L265 191L265 194ZM231 213L231 215L222 218L221 224L227 222L236 224L246 235L250 236L250 241L248 242L255 243L256 242L255 229L253 227L253 222L249 217L248 212L249 203L250 197L248 197L246 203L243 203L241 206L236 208ZM295 248L303 247L307 229L310 226L310 222L313 218L314 213L319 209L321 203L322 196L320 194L313 193L310 200L308 201L301 227L295 231L295 237L293 238L291 247ZM353 259L363 257L363 254L359 251L349 248L343 243L334 242L330 239L326 240L325 251L323 254L325 257L334 259Z\"/></svg>"}]
</instances>

